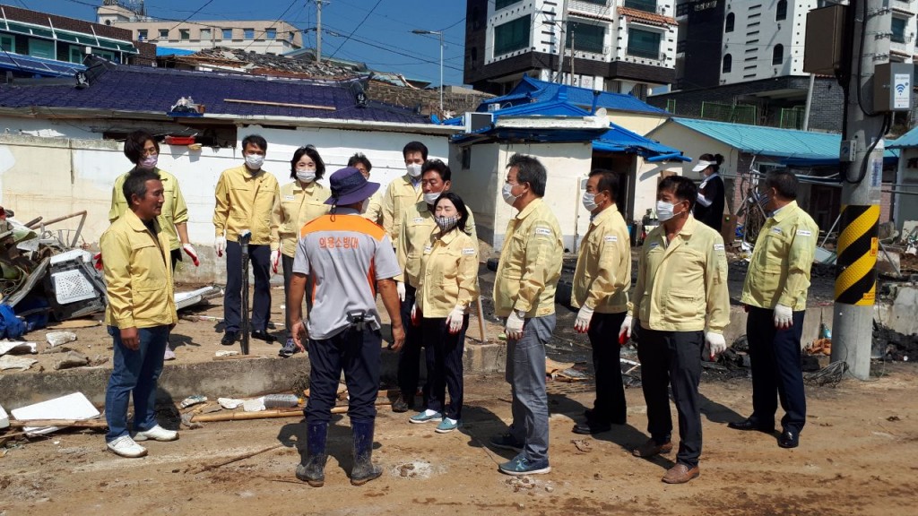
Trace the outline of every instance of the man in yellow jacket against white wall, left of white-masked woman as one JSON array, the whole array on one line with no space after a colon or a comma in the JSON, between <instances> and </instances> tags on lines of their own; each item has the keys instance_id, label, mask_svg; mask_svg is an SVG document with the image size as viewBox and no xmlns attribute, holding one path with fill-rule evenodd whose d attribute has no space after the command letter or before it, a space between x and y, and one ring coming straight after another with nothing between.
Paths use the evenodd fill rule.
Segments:
<instances>
[{"instance_id":1,"label":"man in yellow jacket against white wall, left of white-masked woman","mask_svg":"<svg viewBox=\"0 0 918 516\"><path fill-rule=\"evenodd\" d=\"M241 321L242 247L239 237L244 230L252 231L249 256L255 292L252 297L252 337L274 342L267 332L271 315L271 264L280 255L280 241L273 234L272 210L280 196L280 186L272 174L262 168L268 142L252 134L242 140L245 163L220 174L217 182L217 208L214 209L214 229L217 256L227 255L227 286L223 295L223 339L225 346L239 338Z\"/></svg>"}]
</instances>

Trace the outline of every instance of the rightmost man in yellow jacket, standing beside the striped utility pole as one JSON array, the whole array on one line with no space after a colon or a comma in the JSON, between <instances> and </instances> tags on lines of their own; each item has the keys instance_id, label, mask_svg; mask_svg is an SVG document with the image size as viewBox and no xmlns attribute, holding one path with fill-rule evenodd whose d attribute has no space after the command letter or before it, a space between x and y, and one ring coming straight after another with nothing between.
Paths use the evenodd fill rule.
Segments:
<instances>
[{"instance_id":1,"label":"rightmost man in yellow jacket, standing beside the striped utility pole","mask_svg":"<svg viewBox=\"0 0 918 516\"><path fill-rule=\"evenodd\" d=\"M797 206L797 177L768 173L768 219L756 239L743 286L749 316L746 336L752 360L752 415L731 422L736 430L775 431L778 398L784 417L778 445L796 448L806 423L800 370L800 335L819 227Z\"/></svg>"}]
</instances>

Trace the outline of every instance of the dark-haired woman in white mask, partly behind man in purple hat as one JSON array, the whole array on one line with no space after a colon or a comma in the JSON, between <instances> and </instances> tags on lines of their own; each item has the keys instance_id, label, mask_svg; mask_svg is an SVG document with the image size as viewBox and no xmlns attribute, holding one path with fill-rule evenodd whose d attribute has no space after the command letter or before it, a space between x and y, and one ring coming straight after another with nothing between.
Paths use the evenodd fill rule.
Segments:
<instances>
[{"instance_id":1,"label":"dark-haired woman in white mask, partly behind man in purple hat","mask_svg":"<svg viewBox=\"0 0 918 516\"><path fill-rule=\"evenodd\" d=\"M313 219L317 219L329 212L329 205L325 200L331 195L329 189L319 185L319 179L325 174L325 163L319 156L319 151L312 145L300 147L293 153L290 160L290 178L293 183L281 186L281 195L274 201L273 223L277 231L277 241L280 249L271 255L271 266L277 273L278 262L284 269L284 298L290 288L290 278L293 276L293 258L297 252L299 230ZM308 288L311 292L312 288ZM312 305L311 297L307 297L307 305ZM280 356L291 356L297 353L297 346L293 343L290 328L290 308L285 309L286 342L278 353Z\"/></svg>"}]
</instances>

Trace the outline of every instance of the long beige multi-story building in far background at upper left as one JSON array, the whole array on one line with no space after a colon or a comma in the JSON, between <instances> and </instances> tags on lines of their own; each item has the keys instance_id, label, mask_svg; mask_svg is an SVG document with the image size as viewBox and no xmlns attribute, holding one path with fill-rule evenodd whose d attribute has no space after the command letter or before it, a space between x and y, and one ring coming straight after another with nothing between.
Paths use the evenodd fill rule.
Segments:
<instances>
[{"instance_id":1,"label":"long beige multi-story building in far background at upper left","mask_svg":"<svg viewBox=\"0 0 918 516\"><path fill-rule=\"evenodd\" d=\"M185 21L146 16L141 8L129 8L118 0L105 0L96 9L99 23L129 30L134 39L172 49L202 50L214 47L281 55L303 47L303 34L285 21Z\"/></svg>"}]
</instances>

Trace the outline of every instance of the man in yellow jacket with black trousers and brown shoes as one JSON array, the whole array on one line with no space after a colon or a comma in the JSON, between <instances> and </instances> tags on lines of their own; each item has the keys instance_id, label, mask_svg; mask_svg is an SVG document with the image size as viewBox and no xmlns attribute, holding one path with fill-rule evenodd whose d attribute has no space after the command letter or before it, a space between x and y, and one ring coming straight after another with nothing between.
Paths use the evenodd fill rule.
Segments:
<instances>
[{"instance_id":1,"label":"man in yellow jacket with black trousers and brown shoes","mask_svg":"<svg viewBox=\"0 0 918 516\"><path fill-rule=\"evenodd\" d=\"M631 336L633 326L638 332L647 403L650 439L633 449L635 456L672 450L667 392L672 387L679 448L676 466L663 477L667 484L682 484L700 474L701 353L713 357L726 349L723 329L730 323L723 239L691 215L697 196L698 187L687 177L669 176L657 186L656 216L661 225L644 239L633 309L621 324L623 335Z\"/></svg>"}]
</instances>

